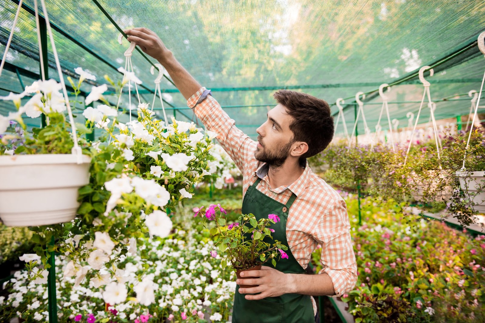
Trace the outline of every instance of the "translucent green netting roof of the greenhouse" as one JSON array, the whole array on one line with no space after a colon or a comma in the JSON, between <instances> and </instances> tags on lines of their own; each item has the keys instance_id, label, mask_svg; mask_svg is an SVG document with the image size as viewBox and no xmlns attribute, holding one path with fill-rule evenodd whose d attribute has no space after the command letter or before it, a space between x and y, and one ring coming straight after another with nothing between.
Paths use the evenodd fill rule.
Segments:
<instances>
[{"instance_id":1,"label":"translucent green netting roof of the greenhouse","mask_svg":"<svg viewBox=\"0 0 485 323\"><path fill-rule=\"evenodd\" d=\"M1 53L18 6L17 0L4 3ZM485 1L478 0L65 0L47 1L47 9L65 76L75 77L76 67L97 76L96 82L85 84L85 92L106 83L105 74L121 79L117 68L124 66L128 43L118 44L119 29L146 27L199 83L212 89L229 116L253 138L268 107L275 105L272 94L278 88L322 98L332 104L334 114L336 100L344 98L350 129L354 105L349 103L355 102L358 91L366 92L364 111L373 129L381 110L376 91L380 84L392 86L386 93L390 117L403 126L406 114L420 105L420 67L434 68L434 76L425 76L437 102L436 118L468 114L468 92L479 90L485 70L477 47L478 35L485 30ZM39 77L32 13L33 0L24 1L0 77L0 95L22 92ZM152 103L155 76L150 67L156 62L141 51L134 52L132 62L143 81L143 101ZM57 78L50 46L49 65L49 76ZM195 120L168 78L161 87L169 115ZM128 104L127 95L122 104ZM161 108L160 102L155 108ZM12 109L11 103L0 103L1 114ZM420 120L429 120L429 109Z\"/></svg>"}]
</instances>

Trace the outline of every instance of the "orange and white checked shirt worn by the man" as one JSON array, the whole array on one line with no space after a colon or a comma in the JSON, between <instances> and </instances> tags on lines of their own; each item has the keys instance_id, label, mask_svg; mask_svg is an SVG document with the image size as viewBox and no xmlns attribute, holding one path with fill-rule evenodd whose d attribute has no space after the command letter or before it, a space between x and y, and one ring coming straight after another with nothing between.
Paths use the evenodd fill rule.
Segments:
<instances>
[{"instance_id":1,"label":"orange and white checked shirt worn by the man","mask_svg":"<svg viewBox=\"0 0 485 323\"><path fill-rule=\"evenodd\" d=\"M296 200L290 208L286 235L289 248L296 261L305 269L311 253L322 246L323 269L332 279L335 296L354 289L357 280L357 264L350 237L350 221L347 206L342 197L308 166L290 186L272 189L268 181L269 166L256 160L254 153L258 142L236 128L235 121L211 96L210 90L200 88L187 105L194 108L195 115L208 130L217 132L216 137L243 174L242 193L261 178L258 190L274 200L286 204L292 193ZM314 308L315 304L314 304Z\"/></svg>"}]
</instances>

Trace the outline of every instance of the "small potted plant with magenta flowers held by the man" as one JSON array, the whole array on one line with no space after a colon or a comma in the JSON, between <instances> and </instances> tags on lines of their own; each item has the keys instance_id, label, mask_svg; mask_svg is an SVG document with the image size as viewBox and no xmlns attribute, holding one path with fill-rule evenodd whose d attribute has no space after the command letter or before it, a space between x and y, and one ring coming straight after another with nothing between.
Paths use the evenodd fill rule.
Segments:
<instances>
[{"instance_id":1,"label":"small potted plant with magenta flowers held by the man","mask_svg":"<svg viewBox=\"0 0 485 323\"><path fill-rule=\"evenodd\" d=\"M275 214L269 214L267 218L256 220L253 214L243 214L239 222L227 225L226 210L220 205L211 204L204 211L203 207L196 209L194 217L200 216L204 221L214 223L210 234L216 236L214 247L224 252L221 261L222 268L232 267L240 278L240 273L246 270L258 270L261 265L271 260L276 265L276 257L287 258L285 250L288 247L274 240L271 236L273 229L271 224L279 221ZM223 215L224 214L224 215ZM217 256L217 251L210 252L212 257ZM244 287L241 285L241 287Z\"/></svg>"}]
</instances>

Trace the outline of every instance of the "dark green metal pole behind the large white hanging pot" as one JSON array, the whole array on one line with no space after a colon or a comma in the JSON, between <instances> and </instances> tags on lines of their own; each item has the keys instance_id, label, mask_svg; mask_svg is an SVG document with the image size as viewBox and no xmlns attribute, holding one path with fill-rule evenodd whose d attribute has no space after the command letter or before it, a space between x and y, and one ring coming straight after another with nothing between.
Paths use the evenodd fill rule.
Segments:
<instances>
[{"instance_id":1,"label":"dark green metal pole behind the large white hanging pot","mask_svg":"<svg viewBox=\"0 0 485 323\"><path fill-rule=\"evenodd\" d=\"M39 33L40 33L40 43L42 47L42 61L40 62L41 71L44 68L44 75L46 80L49 79L49 60L47 52L47 24L43 17L39 17ZM40 56L40 55L39 55ZM41 75L42 76L42 75ZM42 128L47 126L46 115L41 115L41 126ZM52 247L52 251L49 252L49 275L47 277L47 294L49 296L49 323L57 323L57 295L56 295L56 255L54 252L54 237L50 241L49 246ZM49 247L48 247L49 248Z\"/></svg>"}]
</instances>

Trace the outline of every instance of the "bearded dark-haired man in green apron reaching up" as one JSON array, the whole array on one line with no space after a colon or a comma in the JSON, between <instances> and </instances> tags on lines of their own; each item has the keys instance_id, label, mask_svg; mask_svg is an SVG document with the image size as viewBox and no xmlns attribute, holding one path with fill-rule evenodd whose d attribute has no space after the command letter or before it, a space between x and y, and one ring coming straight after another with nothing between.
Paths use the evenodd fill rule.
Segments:
<instances>
[{"instance_id":1,"label":"bearded dark-haired man in green apron reaching up","mask_svg":"<svg viewBox=\"0 0 485 323\"><path fill-rule=\"evenodd\" d=\"M242 213L253 213L257 219L268 214L280 218L272 225L273 238L289 247L288 259L242 273L236 281L233 322L315 322L316 304L309 295L339 296L351 291L357 279L345 202L306 161L332 140L328 104L304 93L279 90L274 94L278 104L257 129L258 141L253 141L153 31L125 32L130 42L165 67L195 115L218 133L217 140L243 173ZM323 269L319 275L305 275L318 245Z\"/></svg>"}]
</instances>

